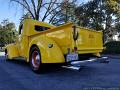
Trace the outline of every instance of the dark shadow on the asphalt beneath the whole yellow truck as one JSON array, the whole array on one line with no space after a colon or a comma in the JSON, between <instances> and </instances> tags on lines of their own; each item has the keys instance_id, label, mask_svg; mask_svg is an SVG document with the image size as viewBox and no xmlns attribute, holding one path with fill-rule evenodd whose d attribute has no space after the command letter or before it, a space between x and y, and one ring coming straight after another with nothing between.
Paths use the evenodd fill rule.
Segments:
<instances>
[{"instance_id":1,"label":"dark shadow on the asphalt beneath the whole yellow truck","mask_svg":"<svg viewBox=\"0 0 120 90\"><path fill-rule=\"evenodd\" d=\"M32 72L32 70L30 69L30 65L29 63L25 62L24 60L10 60L10 61L5 61L9 64L15 65L15 67L20 67L20 68L24 68L24 70L29 70L30 72ZM89 75L93 74L95 72L96 68L95 67L91 67L91 66L83 66L81 67L80 70L74 70L74 69L69 69L69 68L64 68L61 65L57 65L57 64L44 64L42 66L42 72L40 73L40 75L45 75L45 74L49 74L49 75L54 75L54 74L58 74L59 75L69 75L71 74L81 74L81 75ZM29 72L28 71L28 72Z\"/></svg>"}]
</instances>

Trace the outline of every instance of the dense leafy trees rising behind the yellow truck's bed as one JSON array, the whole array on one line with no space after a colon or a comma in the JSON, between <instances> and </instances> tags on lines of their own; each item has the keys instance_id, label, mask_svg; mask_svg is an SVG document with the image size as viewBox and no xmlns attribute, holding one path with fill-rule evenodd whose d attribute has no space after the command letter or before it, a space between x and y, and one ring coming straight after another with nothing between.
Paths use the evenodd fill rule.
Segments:
<instances>
[{"instance_id":1,"label":"dense leafy trees rising behind the yellow truck's bed","mask_svg":"<svg viewBox=\"0 0 120 90\"><path fill-rule=\"evenodd\" d=\"M91 0L78 6L75 2L64 0L61 7L53 13L57 15L52 23L60 25L72 21L79 26L102 30L106 42L112 40L115 34L113 24L114 17L120 15L119 3L119 0Z\"/></svg>"}]
</instances>

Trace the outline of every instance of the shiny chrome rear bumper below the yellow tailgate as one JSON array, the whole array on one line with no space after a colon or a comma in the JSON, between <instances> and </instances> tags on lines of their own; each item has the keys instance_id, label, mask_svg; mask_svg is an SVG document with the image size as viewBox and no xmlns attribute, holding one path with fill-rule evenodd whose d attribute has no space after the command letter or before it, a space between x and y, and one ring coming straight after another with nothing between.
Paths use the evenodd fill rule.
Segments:
<instances>
[{"instance_id":1,"label":"shiny chrome rear bumper below the yellow tailgate","mask_svg":"<svg viewBox=\"0 0 120 90\"><path fill-rule=\"evenodd\" d=\"M108 57L100 57L100 58L91 58L89 60L70 62L70 64L73 66L84 66L92 63L109 63L109 60L108 60Z\"/></svg>"}]
</instances>

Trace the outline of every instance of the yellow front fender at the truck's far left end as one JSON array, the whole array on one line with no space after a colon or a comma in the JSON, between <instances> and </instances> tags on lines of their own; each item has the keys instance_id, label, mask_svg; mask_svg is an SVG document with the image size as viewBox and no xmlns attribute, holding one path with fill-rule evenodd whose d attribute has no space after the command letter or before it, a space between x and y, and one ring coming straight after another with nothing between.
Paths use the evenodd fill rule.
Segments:
<instances>
[{"instance_id":1,"label":"yellow front fender at the truck's far left end","mask_svg":"<svg viewBox=\"0 0 120 90\"><path fill-rule=\"evenodd\" d=\"M14 57L19 56L18 49L15 44L9 44L5 47L5 49L7 50L8 59L13 59Z\"/></svg>"}]
</instances>

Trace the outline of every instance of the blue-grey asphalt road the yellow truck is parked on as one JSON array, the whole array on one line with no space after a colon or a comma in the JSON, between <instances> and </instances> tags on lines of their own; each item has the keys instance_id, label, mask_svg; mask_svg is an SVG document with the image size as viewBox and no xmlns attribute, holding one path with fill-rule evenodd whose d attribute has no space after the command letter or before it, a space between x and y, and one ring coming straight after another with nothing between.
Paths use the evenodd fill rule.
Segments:
<instances>
[{"instance_id":1,"label":"blue-grey asphalt road the yellow truck is parked on","mask_svg":"<svg viewBox=\"0 0 120 90\"><path fill-rule=\"evenodd\" d=\"M80 71L49 66L45 73L35 74L27 63L6 62L1 56L0 90L120 90L120 59L110 60L109 64L91 64Z\"/></svg>"}]
</instances>

